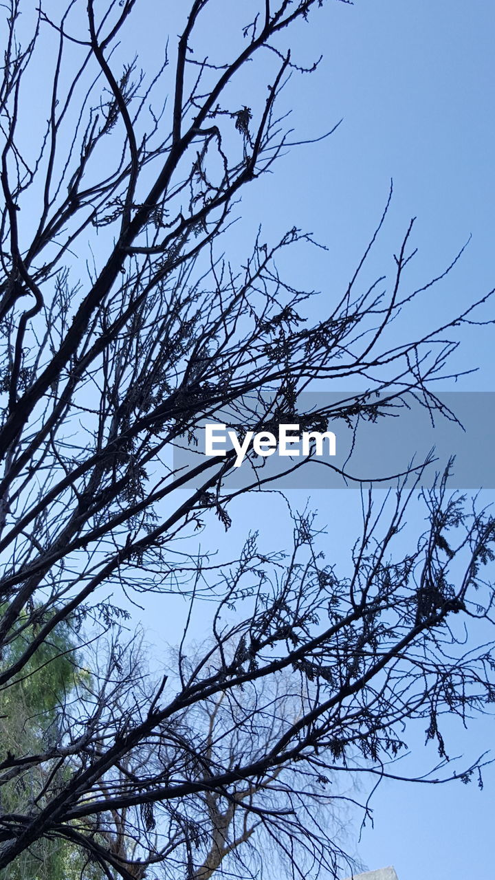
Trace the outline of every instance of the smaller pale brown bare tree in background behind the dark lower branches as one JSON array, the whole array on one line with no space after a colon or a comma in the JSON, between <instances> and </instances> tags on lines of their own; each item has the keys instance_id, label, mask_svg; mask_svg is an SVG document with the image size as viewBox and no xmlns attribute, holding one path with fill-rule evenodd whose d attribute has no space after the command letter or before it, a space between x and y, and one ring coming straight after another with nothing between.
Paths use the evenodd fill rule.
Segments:
<instances>
[{"instance_id":1,"label":"smaller pale brown bare tree in background behind the dark lower branches","mask_svg":"<svg viewBox=\"0 0 495 880\"><path fill-rule=\"evenodd\" d=\"M235 637L233 642L239 649ZM214 643L190 647L196 656L203 656L214 677L218 671ZM235 649L229 639L224 649L234 662ZM133 705L136 719L142 708L149 706L149 685L144 684L139 642L129 643L128 651L129 656L121 648L119 663L122 671L129 671L134 697L141 694L140 705L137 707L136 700ZM178 669L189 676L194 672L184 656L174 656L168 686ZM101 672L101 685L108 693L107 670ZM123 674L114 699L118 714L127 717L126 678ZM174 686L181 689L179 681L174 681ZM79 699L87 699L81 689ZM294 847L301 861L309 855L314 862L316 856L321 865L332 866L333 873L339 856L347 860L338 840L343 836L343 808L351 796L337 792L336 781L329 796L321 779L316 781L306 766L267 765L255 778L240 777L232 785L198 790L181 803L115 804L116 791L125 790L130 779L140 780L146 787L151 776L171 780L180 765L196 778L213 766L235 771L247 756L259 763L287 725L299 720L301 706L309 708L300 679L282 672L277 678L263 678L256 686L248 682L232 693L220 690L175 713L172 722L145 737L100 781L95 791L107 810L96 818L85 818L82 827L90 838L85 848L93 849L97 856L105 854L117 873L127 870L131 876L148 876L146 871L152 869L175 876L178 868L195 880L207 880L224 869L233 876L257 876L263 869L261 852L265 856L270 852L272 864L280 862L282 855L286 869L284 858ZM337 803L338 814L333 809ZM286 838L282 847L278 835Z\"/></svg>"}]
</instances>

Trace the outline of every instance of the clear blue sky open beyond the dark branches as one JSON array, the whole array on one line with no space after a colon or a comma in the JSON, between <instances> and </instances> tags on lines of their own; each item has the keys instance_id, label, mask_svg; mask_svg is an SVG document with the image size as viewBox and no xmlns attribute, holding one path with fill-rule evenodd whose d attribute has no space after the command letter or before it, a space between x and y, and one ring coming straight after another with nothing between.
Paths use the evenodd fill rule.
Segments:
<instances>
[{"instance_id":1,"label":"clear blue sky open beyond the dark branches","mask_svg":"<svg viewBox=\"0 0 495 880\"><path fill-rule=\"evenodd\" d=\"M219 18L223 6L218 3ZM159 40L161 14L149 35L150 45ZM243 196L242 236L260 223L273 237L294 224L312 231L327 252L305 252L289 268L295 282L305 282L331 299L351 277L393 179L394 198L373 268L381 268L380 260L389 266L413 216L418 253L412 275L423 282L439 275L470 237L454 272L412 312L411 333L425 321L426 326L443 321L446 314L491 290L494 26L495 8L482 0L326 4L317 26L299 27L295 43L301 64L321 54L323 60L311 77L293 77L282 103L292 108L295 139L318 137L343 121L328 139L293 148L275 174ZM203 34L206 43L219 39L221 29L213 26L211 33ZM490 310L484 316L493 317ZM490 326L463 331L454 366L479 369L456 385L446 380L442 388L495 391L493 333ZM311 497L329 525L331 552L331 537L340 544L353 533L358 495L314 490ZM491 500L490 494L486 498ZM294 493L294 502L299 500L300 494ZM243 510L250 524L253 510L249 505ZM282 526L277 530L262 516L257 522L265 534L270 532L270 539L283 541ZM163 644L172 636L157 631L153 614L152 605L146 606L144 626L151 642ZM473 723L469 734L452 732L459 753L482 752L493 741L493 720ZM410 742L423 759L424 731L414 729ZM430 752L426 758L434 763L434 750ZM424 766L423 761L419 764ZM393 864L399 880L489 876L494 794L490 768L483 790L476 783L383 782L373 799L373 829L368 823L358 840L358 822L351 826L351 852L367 869Z\"/></svg>"}]
</instances>

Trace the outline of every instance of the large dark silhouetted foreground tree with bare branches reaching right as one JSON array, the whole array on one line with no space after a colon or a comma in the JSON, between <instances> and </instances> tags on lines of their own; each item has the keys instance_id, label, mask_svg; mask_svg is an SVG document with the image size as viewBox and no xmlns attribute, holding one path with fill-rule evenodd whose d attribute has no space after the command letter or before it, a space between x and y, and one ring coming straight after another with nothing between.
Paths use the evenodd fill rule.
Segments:
<instances>
[{"instance_id":1,"label":"large dark silhouetted foreground tree with bare branches reaching right","mask_svg":"<svg viewBox=\"0 0 495 880\"><path fill-rule=\"evenodd\" d=\"M445 759L441 713L463 717L492 697L490 652L463 654L457 623L490 620L480 567L491 561L493 523L448 499L445 480L427 499L430 530L395 561L412 489L400 484L381 532L365 504L346 577L321 561L307 516L295 522L292 557L267 555L250 536L221 575L208 554L177 544L209 517L228 528L240 491L229 489L230 453L181 473L171 467L169 451L204 416L231 407L241 429L296 417L326 426L373 421L408 395L441 411L430 380L445 374L456 327L472 323L487 298L390 345L390 322L413 297L431 296L433 282L403 290L412 221L388 294L362 281L387 209L351 282L313 326L308 292L277 268L289 246L314 246L309 235L292 228L270 245L260 232L240 268L222 255L240 191L294 143L278 99L291 75L311 72L295 57L298 27L316 21L322 4L253 0L242 23L236 7L225 20L228 46L202 54L203 27L221 4L192 0L156 70L122 55L134 17L149 11L144 0L98 9L72 0L63 11L8 4L2 693L30 674L62 623L84 665L85 641L122 615L107 599L115 587L182 591L193 603L218 595L219 605L211 648L193 664L179 655L176 693L165 679L144 686L117 640L105 668L78 681L78 700L72 692L60 700L46 749L3 756L0 783L26 774L42 782L22 812L0 820L0 869L36 841L62 838L108 877L160 868L206 880L247 852L260 825L294 871L335 872L338 840L317 810L307 819L308 804L332 801L328 774L348 773L353 760L358 772L359 754L383 774L402 747L397 730L413 717L428 718ZM258 63L268 77L259 95ZM42 126L33 131L28 95L40 81ZM300 392L329 378L359 378L366 391L301 411ZM257 473L256 488L263 481ZM447 543L449 530L458 546ZM235 605L238 619L221 624ZM23 633L30 637L14 655L9 646Z\"/></svg>"}]
</instances>

